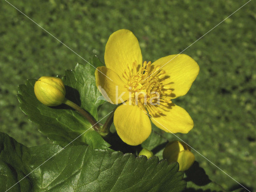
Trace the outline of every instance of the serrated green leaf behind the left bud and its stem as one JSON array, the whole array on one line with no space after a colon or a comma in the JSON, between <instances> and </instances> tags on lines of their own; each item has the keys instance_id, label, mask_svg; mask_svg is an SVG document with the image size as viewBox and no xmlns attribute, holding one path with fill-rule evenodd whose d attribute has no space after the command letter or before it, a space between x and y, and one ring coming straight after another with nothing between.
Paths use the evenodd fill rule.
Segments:
<instances>
[{"instance_id":1,"label":"serrated green leaf behind the left bud and its stem","mask_svg":"<svg viewBox=\"0 0 256 192\"><path fill-rule=\"evenodd\" d=\"M94 58L93 61L96 63L96 66L99 65L100 61L98 58ZM64 84L65 86L67 85L67 98L92 112L94 118L97 119L97 108L103 101L97 99L100 93L96 89L95 69L93 69L89 64L78 64L74 71L66 72ZM85 79L86 82L81 81ZM76 80L78 81L76 82ZM17 97L21 110L28 116L29 120L40 125L40 132L64 146L88 130L78 139L74 140L72 145L84 144L85 142L94 148L106 149L110 146L91 128L92 125L72 108L64 104L48 107L39 102L34 94L35 82L36 80L27 80L25 85L19 85Z\"/></svg>"}]
</instances>

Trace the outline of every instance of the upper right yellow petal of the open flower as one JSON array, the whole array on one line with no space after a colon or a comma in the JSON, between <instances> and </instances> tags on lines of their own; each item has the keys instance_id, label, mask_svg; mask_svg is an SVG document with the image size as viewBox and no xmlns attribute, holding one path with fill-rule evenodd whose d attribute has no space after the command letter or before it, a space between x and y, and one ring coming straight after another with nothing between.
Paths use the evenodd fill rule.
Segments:
<instances>
[{"instance_id":1,"label":"upper right yellow petal of the open flower","mask_svg":"<svg viewBox=\"0 0 256 192\"><path fill-rule=\"evenodd\" d=\"M152 65L163 66L160 70L164 70L166 76L169 76L164 84L168 89L173 90L171 98L185 95L199 72L199 66L195 60L185 54L162 57Z\"/></svg>"}]
</instances>

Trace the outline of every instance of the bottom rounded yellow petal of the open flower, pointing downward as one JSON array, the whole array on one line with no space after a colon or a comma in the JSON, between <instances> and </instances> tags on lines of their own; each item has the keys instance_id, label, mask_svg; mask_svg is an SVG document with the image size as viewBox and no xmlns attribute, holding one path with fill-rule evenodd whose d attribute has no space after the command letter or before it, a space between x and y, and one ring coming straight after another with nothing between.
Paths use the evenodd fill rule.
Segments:
<instances>
[{"instance_id":1,"label":"bottom rounded yellow petal of the open flower, pointing downward","mask_svg":"<svg viewBox=\"0 0 256 192\"><path fill-rule=\"evenodd\" d=\"M116 109L114 125L117 134L129 145L141 144L151 133L148 115L137 105L128 105L128 103L122 104Z\"/></svg>"}]
</instances>

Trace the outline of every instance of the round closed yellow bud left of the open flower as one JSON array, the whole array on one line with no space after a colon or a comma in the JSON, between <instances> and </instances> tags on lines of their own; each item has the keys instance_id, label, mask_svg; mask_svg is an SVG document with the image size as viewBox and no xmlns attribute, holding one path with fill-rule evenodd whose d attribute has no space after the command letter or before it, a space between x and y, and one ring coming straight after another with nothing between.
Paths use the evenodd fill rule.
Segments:
<instances>
[{"instance_id":1,"label":"round closed yellow bud left of the open flower","mask_svg":"<svg viewBox=\"0 0 256 192\"><path fill-rule=\"evenodd\" d=\"M65 100L65 86L60 78L42 76L34 85L36 98L47 106L57 106Z\"/></svg>"}]
</instances>

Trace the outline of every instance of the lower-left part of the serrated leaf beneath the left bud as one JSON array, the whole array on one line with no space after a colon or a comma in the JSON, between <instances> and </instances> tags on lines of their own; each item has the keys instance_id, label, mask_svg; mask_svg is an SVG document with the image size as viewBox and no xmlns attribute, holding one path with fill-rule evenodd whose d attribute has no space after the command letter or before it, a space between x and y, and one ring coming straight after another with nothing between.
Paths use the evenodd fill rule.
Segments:
<instances>
[{"instance_id":1,"label":"lower-left part of the serrated leaf beneath the left bud","mask_svg":"<svg viewBox=\"0 0 256 192\"><path fill-rule=\"evenodd\" d=\"M79 133L90 128L89 122L65 105L48 107L40 103L34 94L36 80L27 80L18 86L18 100L21 110L29 120L40 125L40 131L53 140L70 142ZM75 142L81 142L76 140Z\"/></svg>"}]
</instances>

